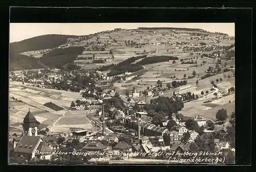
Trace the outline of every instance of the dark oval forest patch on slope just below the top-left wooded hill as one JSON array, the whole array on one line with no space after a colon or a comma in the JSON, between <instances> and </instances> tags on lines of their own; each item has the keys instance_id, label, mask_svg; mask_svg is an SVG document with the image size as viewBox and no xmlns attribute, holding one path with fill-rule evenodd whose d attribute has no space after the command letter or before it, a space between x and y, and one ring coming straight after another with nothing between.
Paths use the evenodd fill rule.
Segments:
<instances>
[{"instance_id":1,"label":"dark oval forest patch on slope just below the top-left wooded hill","mask_svg":"<svg viewBox=\"0 0 256 172\"><path fill-rule=\"evenodd\" d=\"M47 54L42 55L40 61L47 66L62 68L67 63L72 63L78 54L83 52L82 46L67 48L57 48Z\"/></svg>"}]
</instances>

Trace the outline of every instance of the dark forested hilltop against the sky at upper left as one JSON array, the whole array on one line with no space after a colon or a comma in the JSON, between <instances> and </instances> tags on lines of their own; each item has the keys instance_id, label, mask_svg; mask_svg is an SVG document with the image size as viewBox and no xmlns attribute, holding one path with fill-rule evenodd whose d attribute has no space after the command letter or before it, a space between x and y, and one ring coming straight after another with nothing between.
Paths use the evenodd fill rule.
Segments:
<instances>
[{"instance_id":1,"label":"dark forested hilltop against the sky at upper left","mask_svg":"<svg viewBox=\"0 0 256 172\"><path fill-rule=\"evenodd\" d=\"M68 38L78 38L74 35L41 35L10 43L10 53L23 53L36 50L54 48L65 44Z\"/></svg>"}]
</instances>

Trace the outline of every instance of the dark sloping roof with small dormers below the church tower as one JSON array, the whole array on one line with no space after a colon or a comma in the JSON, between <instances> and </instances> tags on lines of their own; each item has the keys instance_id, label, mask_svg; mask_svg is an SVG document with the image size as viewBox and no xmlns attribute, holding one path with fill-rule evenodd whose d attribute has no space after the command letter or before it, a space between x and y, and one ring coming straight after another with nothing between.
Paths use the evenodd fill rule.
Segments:
<instances>
[{"instance_id":1,"label":"dark sloping roof with small dormers below the church tower","mask_svg":"<svg viewBox=\"0 0 256 172\"><path fill-rule=\"evenodd\" d=\"M14 152L16 153L32 153L35 149L35 146L40 141L41 137L39 136L23 136L22 139L16 146Z\"/></svg>"}]
</instances>

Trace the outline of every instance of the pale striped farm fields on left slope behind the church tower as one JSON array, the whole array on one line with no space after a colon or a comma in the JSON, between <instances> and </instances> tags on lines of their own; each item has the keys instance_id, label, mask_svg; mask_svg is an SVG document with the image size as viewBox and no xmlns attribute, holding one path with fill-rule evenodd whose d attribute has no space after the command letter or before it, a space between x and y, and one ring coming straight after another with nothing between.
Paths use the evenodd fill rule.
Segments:
<instances>
[{"instance_id":1,"label":"pale striped farm fields on left slope behind the church tower","mask_svg":"<svg viewBox=\"0 0 256 172\"><path fill-rule=\"evenodd\" d=\"M21 122L23 122L29 109L41 123L39 128L50 127L63 113L68 111L72 101L81 98L80 93L77 92L24 86L17 82L10 82L9 91L10 98L14 97L22 101L15 102L12 99L9 101L9 125L17 128L22 128ZM44 106L47 102L52 102L64 109L59 111L52 110ZM72 118L71 115L70 118ZM82 121L82 119L79 119L79 121Z\"/></svg>"}]
</instances>

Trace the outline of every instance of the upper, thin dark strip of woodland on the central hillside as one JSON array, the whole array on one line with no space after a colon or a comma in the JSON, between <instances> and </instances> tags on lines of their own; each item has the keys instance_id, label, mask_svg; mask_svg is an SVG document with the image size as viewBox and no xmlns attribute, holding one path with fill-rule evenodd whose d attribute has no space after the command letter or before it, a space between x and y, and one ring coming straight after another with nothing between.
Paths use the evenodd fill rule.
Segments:
<instances>
[{"instance_id":1,"label":"upper, thin dark strip of woodland on the central hillside","mask_svg":"<svg viewBox=\"0 0 256 172\"><path fill-rule=\"evenodd\" d=\"M178 60L178 57L173 56L152 56L152 57L146 57L142 59L141 61L137 62L138 65L145 65L145 64L154 64L154 63L160 63L160 62L167 62L169 60Z\"/></svg>"}]
</instances>

